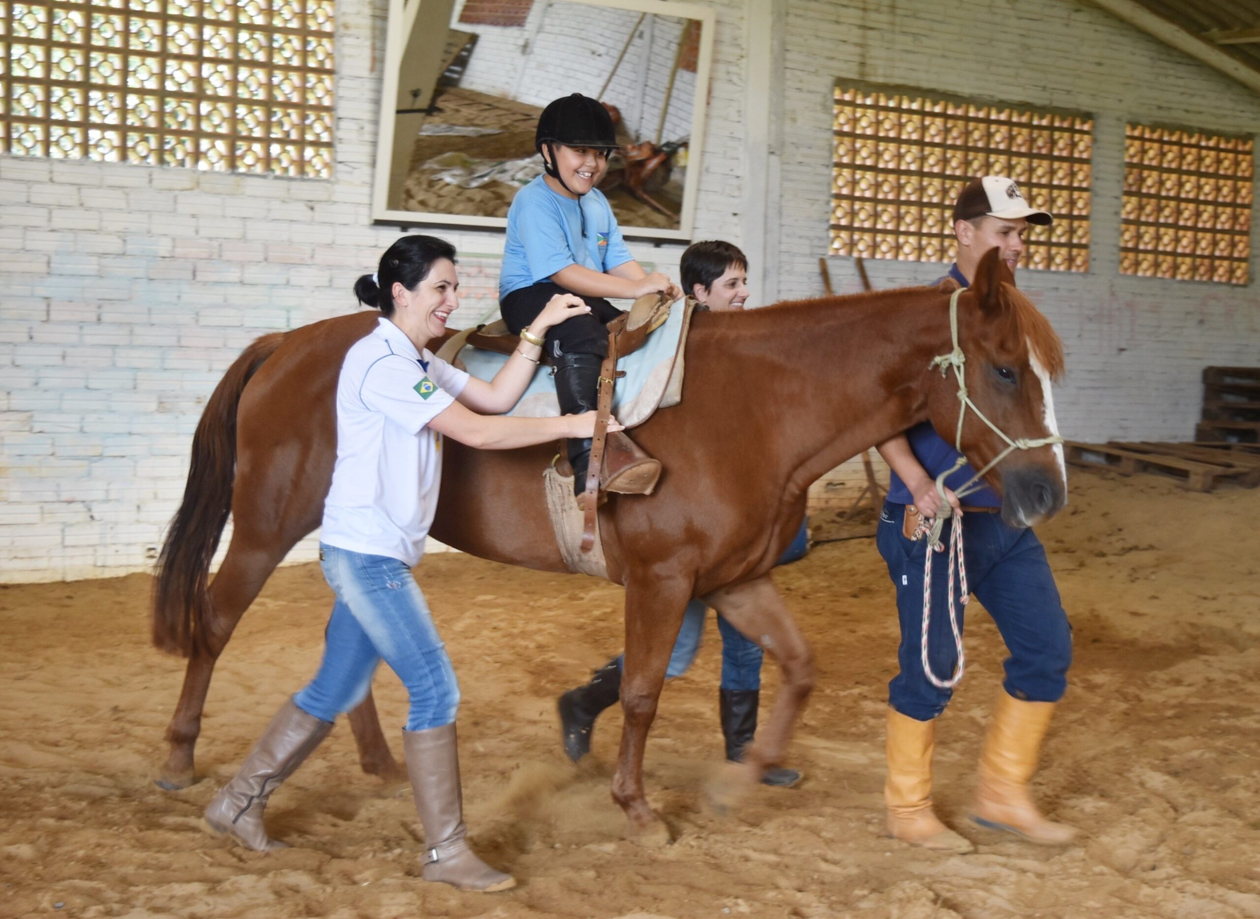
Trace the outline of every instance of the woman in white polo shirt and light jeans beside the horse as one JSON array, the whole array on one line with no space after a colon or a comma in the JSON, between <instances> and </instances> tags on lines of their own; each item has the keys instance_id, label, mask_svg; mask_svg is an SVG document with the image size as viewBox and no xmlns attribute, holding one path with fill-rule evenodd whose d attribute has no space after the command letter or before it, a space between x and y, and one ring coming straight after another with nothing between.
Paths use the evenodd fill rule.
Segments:
<instances>
[{"instance_id":1,"label":"woman in white polo shirt and light jeans beside the horse","mask_svg":"<svg viewBox=\"0 0 1260 919\"><path fill-rule=\"evenodd\" d=\"M459 685L411 569L433 520L444 436L483 449L591 437L593 412L559 418L481 414L515 405L537 369L543 334L590 307L572 295L553 297L522 334L508 364L486 383L426 349L459 306L457 287L455 248L423 235L396 242L377 274L354 286L358 298L383 315L345 355L338 380L336 466L320 533L324 577L336 594L324 661L272 719L205 818L210 828L251 849L284 847L263 826L267 798L328 735L336 716L363 700L384 660L411 699L403 749L425 826L423 876L493 891L515 880L483 862L467 845L455 739Z\"/></svg>"}]
</instances>

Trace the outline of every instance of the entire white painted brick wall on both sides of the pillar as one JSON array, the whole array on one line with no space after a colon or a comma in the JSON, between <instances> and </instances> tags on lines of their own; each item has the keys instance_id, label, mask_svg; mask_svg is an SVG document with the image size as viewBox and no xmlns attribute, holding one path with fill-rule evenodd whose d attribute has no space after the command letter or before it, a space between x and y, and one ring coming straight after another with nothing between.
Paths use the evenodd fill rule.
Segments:
<instances>
[{"instance_id":1,"label":"entire white painted brick wall on both sides of the pillar","mask_svg":"<svg viewBox=\"0 0 1260 919\"><path fill-rule=\"evenodd\" d=\"M774 150L781 198L770 203L776 248L748 253L779 261L780 295L822 292L834 78L1091 111L1091 271L1021 276L1067 346L1060 419L1071 437L1191 437L1200 369L1255 363L1256 282L1234 288L1116 273L1124 122L1255 131L1260 99L1079 3L780 3L785 70L767 91L782 120ZM696 237L738 243L745 5L712 5ZM386 6L344 0L338 15L331 181L0 157L0 579L147 568L183 493L200 408L228 364L258 335L355 308L354 278L398 235L368 218L381 86L370 65L383 57ZM992 29L978 30L978 21ZM975 37L990 33L1005 42L994 59L1009 65L976 47ZM456 317L493 313L501 234L428 232L461 252ZM680 245L631 249L649 269L677 276ZM878 287L941 273L903 262L869 262L868 271ZM832 259L832 277L842 291L858 290L848 259ZM290 560L312 556L306 540Z\"/></svg>"}]
</instances>

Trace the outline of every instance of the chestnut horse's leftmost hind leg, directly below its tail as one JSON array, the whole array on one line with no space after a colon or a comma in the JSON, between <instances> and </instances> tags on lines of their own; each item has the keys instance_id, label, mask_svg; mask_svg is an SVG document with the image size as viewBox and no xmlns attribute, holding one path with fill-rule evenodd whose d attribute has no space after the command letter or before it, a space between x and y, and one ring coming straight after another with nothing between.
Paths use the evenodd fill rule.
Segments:
<instances>
[{"instance_id":1,"label":"chestnut horse's leftmost hind leg, directly below its tail","mask_svg":"<svg viewBox=\"0 0 1260 919\"><path fill-rule=\"evenodd\" d=\"M253 603L262 585L285 556L287 546L277 553L280 546L268 549L244 549L233 538L223 567L209 587L210 621L205 624L205 646L203 653L189 657L184 672L184 689L175 705L175 715L166 728L166 740L170 754L156 779L160 788L175 791L197 782L194 748L202 731L202 711L205 708L205 694L210 689L214 665L232 637L244 611Z\"/></svg>"}]
</instances>

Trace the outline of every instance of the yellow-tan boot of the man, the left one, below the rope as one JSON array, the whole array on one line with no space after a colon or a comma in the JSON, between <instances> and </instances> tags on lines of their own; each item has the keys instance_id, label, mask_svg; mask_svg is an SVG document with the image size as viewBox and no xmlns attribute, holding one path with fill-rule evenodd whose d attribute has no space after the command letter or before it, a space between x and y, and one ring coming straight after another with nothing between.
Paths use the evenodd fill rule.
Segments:
<instances>
[{"instance_id":1,"label":"yellow-tan boot of the man, the left one, below the rope","mask_svg":"<svg viewBox=\"0 0 1260 919\"><path fill-rule=\"evenodd\" d=\"M932 748L936 723L916 721L888 709L888 832L902 842L937 852L970 852L974 846L932 812Z\"/></svg>"}]
</instances>

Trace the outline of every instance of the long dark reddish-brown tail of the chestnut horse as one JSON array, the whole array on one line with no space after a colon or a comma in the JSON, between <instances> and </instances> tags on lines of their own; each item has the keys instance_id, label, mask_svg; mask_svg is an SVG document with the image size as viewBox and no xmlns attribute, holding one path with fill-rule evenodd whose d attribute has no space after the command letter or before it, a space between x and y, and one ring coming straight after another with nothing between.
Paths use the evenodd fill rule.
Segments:
<instances>
[{"instance_id":1,"label":"long dark reddish-brown tail of the chestnut horse","mask_svg":"<svg viewBox=\"0 0 1260 919\"><path fill-rule=\"evenodd\" d=\"M244 349L214 388L193 434L184 500L158 556L152 595L154 645L180 657L208 650L207 582L232 510L237 405L249 378L284 337L284 332L265 335Z\"/></svg>"}]
</instances>

